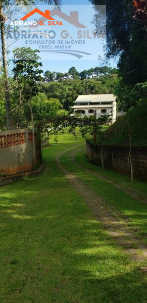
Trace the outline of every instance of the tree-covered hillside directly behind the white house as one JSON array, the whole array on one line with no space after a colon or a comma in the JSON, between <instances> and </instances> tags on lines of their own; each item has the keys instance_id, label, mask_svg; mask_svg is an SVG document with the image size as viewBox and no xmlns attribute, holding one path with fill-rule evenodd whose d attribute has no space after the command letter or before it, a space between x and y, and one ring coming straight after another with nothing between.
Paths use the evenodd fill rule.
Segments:
<instances>
[{"instance_id":1,"label":"tree-covered hillside directly behind the white house","mask_svg":"<svg viewBox=\"0 0 147 303\"><path fill-rule=\"evenodd\" d=\"M79 94L114 93L118 82L117 70L111 67L96 67L81 73L71 67L64 74L46 71L40 92L47 98L58 98L63 109L71 111Z\"/></svg>"}]
</instances>

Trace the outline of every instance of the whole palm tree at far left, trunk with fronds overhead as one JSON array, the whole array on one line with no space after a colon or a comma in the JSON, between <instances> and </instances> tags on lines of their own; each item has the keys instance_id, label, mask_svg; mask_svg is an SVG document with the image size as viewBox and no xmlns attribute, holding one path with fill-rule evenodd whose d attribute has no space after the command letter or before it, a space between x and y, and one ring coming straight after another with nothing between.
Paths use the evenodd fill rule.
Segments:
<instances>
[{"instance_id":1,"label":"whole palm tree at far left, trunk with fronds overhead","mask_svg":"<svg viewBox=\"0 0 147 303\"><path fill-rule=\"evenodd\" d=\"M61 6L61 0L41 0L41 2L48 5L55 5L58 8ZM6 101L6 116L7 116L7 129L12 128L11 121L11 106L10 106L10 89L9 89L9 76L8 76L8 61L7 61L7 48L5 39L5 22L6 16L4 13L5 5L16 5L22 9L27 10L32 7L33 0L0 0L0 22L1 22L1 40L2 40L2 56L3 56L3 69L5 76L5 101Z\"/></svg>"}]
</instances>

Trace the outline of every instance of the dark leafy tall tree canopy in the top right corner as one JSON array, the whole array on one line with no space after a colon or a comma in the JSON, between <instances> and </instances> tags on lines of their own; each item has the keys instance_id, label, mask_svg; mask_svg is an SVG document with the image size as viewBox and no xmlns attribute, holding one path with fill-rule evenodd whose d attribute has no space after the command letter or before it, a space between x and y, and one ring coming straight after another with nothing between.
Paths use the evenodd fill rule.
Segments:
<instances>
[{"instance_id":1,"label":"dark leafy tall tree canopy in the top right corner","mask_svg":"<svg viewBox=\"0 0 147 303\"><path fill-rule=\"evenodd\" d=\"M138 20L133 18L138 12L133 6L133 0L90 0L90 2L93 5L106 5L107 58L110 59L115 56L118 58L119 56L119 75L122 77L124 84L146 81L147 35L144 23L140 22L138 18ZM139 2L143 4L146 3L146 0ZM95 7L96 9L99 10L99 7ZM141 20L144 20L144 16L146 16L145 10L141 15L142 17L140 17ZM99 34L101 31L99 18L95 18L95 27L97 34Z\"/></svg>"}]
</instances>

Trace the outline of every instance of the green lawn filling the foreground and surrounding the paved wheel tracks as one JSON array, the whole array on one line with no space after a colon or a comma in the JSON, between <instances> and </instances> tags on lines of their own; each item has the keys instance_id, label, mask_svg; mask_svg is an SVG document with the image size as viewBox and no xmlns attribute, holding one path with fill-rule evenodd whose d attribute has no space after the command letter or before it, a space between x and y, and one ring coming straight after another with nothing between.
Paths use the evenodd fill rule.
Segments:
<instances>
[{"instance_id":1,"label":"green lawn filling the foreground and surrounding the paved wheel tracks","mask_svg":"<svg viewBox=\"0 0 147 303\"><path fill-rule=\"evenodd\" d=\"M80 137L75 140L69 134L61 135L57 144L43 151L41 176L0 188L2 302L146 302L140 264L131 261L108 236L56 164L60 151L83 142ZM84 153L76 157L91 165ZM61 160L125 212L138 230L141 226L144 230L144 204L125 193L118 201L118 190L106 190L103 180L97 181L72 164L69 152ZM111 174L115 178L116 174Z\"/></svg>"}]
</instances>

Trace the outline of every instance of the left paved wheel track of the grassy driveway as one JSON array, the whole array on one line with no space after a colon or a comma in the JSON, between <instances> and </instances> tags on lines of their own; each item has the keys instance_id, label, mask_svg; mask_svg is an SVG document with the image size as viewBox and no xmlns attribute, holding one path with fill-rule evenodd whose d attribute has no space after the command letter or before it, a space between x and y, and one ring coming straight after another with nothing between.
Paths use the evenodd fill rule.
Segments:
<instances>
[{"instance_id":1,"label":"left paved wheel track of the grassy driveway","mask_svg":"<svg viewBox=\"0 0 147 303\"><path fill-rule=\"evenodd\" d=\"M76 147L77 146L68 148L58 154L57 164L59 168L66 175L75 191L91 208L95 218L103 224L108 235L113 237L117 244L124 248L126 254L130 254L133 261L144 262L147 257L147 247L139 243L137 236L130 230L129 220L122 218L122 214L111 205L108 200L92 190L80 177L77 177L76 174L71 173L70 170L64 166L64 161L60 161L60 157L63 156L63 154ZM72 151L71 159L68 159L69 161L74 161L74 154L76 152L77 150ZM79 163L76 163L76 165L80 166ZM91 174L91 170L85 169L85 171ZM101 175L99 177L101 178ZM142 267L141 269L147 272L146 267Z\"/></svg>"}]
</instances>

